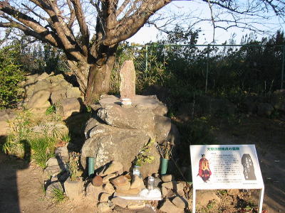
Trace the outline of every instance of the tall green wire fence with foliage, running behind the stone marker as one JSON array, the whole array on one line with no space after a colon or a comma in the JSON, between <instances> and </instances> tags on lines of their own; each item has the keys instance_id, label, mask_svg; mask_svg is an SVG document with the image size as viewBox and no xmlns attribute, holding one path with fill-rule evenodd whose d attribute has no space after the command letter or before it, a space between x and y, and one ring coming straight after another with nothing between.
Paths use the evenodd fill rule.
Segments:
<instances>
[{"instance_id":1,"label":"tall green wire fence with foliage, running behind the stone marker","mask_svg":"<svg viewBox=\"0 0 285 213\"><path fill-rule=\"evenodd\" d=\"M164 84L175 76L181 87L204 92L230 90L269 92L284 88L285 45L120 45L111 91L118 91L118 70L134 60L138 89ZM28 53L21 57L26 70L70 71L63 53Z\"/></svg>"}]
</instances>

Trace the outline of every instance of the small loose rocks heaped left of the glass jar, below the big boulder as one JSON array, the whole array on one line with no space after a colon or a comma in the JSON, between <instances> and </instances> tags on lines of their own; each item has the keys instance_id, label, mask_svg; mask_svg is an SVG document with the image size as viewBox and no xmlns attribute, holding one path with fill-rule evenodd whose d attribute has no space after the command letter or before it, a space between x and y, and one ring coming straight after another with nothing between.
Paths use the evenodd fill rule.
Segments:
<instances>
[{"instance_id":1,"label":"small loose rocks heaped left of the glass jar, below the big boulder","mask_svg":"<svg viewBox=\"0 0 285 213\"><path fill-rule=\"evenodd\" d=\"M93 178L86 187L86 198L97 203L100 212L112 212L112 209L143 209L144 201L125 200L116 197L114 192L124 195L138 195L142 188L145 188L142 178L138 175L123 175L123 164L112 161L104 165L100 173Z\"/></svg>"}]
</instances>

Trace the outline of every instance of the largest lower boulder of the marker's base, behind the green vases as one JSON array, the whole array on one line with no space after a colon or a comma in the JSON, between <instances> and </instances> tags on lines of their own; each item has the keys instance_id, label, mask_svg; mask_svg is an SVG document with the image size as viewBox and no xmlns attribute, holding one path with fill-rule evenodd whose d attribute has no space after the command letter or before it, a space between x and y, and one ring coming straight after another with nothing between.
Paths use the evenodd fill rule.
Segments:
<instances>
[{"instance_id":1,"label":"largest lower boulder of the marker's base, behind the green vases","mask_svg":"<svg viewBox=\"0 0 285 213\"><path fill-rule=\"evenodd\" d=\"M131 162L150 138L145 131L139 129L125 131L105 124L95 126L90 131L90 136L81 150L83 168L86 167L86 158L93 157L95 168L100 168L110 160L117 160L123 163L123 170L130 169Z\"/></svg>"}]
</instances>

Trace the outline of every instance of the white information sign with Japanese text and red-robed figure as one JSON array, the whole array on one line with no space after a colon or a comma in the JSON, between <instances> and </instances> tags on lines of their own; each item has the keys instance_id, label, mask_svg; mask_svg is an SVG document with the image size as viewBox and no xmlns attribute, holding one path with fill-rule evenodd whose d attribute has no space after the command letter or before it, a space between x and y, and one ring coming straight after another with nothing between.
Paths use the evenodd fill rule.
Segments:
<instances>
[{"instance_id":1,"label":"white information sign with Japanese text and red-robed figure","mask_svg":"<svg viewBox=\"0 0 285 213\"><path fill-rule=\"evenodd\" d=\"M260 189L262 210L264 183L254 145L190 146L193 212L196 190Z\"/></svg>"}]
</instances>

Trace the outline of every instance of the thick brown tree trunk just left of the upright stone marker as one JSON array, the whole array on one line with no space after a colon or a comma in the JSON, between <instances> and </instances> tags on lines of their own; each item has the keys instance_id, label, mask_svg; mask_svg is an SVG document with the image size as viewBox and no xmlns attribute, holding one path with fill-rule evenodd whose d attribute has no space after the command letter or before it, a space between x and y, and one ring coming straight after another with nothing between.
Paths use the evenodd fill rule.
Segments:
<instances>
[{"instance_id":1,"label":"thick brown tree trunk just left of the upright stone marker","mask_svg":"<svg viewBox=\"0 0 285 213\"><path fill-rule=\"evenodd\" d=\"M110 77L115 64L115 55L97 60L91 65L88 75L85 102L93 104L101 94L107 94L110 89Z\"/></svg>"}]
</instances>

